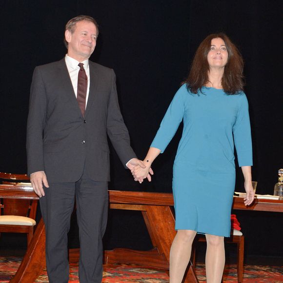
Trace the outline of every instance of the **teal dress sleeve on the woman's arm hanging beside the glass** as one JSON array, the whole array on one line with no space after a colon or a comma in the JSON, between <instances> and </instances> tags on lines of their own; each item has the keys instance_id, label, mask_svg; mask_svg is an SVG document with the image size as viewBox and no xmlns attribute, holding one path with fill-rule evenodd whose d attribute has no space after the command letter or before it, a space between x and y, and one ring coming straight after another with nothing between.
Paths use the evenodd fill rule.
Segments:
<instances>
[{"instance_id":1,"label":"teal dress sleeve on the woman's arm hanging beside the glass","mask_svg":"<svg viewBox=\"0 0 283 283\"><path fill-rule=\"evenodd\" d=\"M252 139L248 101L244 93L240 94L239 111L233 126L234 143L239 166L252 166Z\"/></svg>"}]
</instances>

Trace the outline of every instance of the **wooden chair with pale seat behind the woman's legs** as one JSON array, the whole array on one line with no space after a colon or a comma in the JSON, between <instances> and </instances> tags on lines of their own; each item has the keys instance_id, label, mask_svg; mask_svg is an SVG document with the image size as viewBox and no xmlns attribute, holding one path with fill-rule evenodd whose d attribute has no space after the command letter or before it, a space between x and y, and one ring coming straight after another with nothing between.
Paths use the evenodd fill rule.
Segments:
<instances>
[{"instance_id":1,"label":"wooden chair with pale seat behind the woman's legs","mask_svg":"<svg viewBox=\"0 0 283 283\"><path fill-rule=\"evenodd\" d=\"M206 242L206 238L204 235L197 236L196 241L198 242ZM235 243L237 244L237 271L238 271L238 282L243 282L243 249L244 249L244 236L241 231L236 229L232 229L231 237L224 238L225 243ZM196 264L196 249L193 248L192 252L192 263L195 267Z\"/></svg>"}]
</instances>

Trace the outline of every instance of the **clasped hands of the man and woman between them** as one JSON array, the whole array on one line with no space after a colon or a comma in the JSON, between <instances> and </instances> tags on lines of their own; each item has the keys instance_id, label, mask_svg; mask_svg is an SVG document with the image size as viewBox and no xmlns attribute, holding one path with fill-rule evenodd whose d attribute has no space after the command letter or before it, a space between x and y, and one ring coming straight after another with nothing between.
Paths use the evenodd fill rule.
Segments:
<instances>
[{"instance_id":1,"label":"clasped hands of the man and woman between them","mask_svg":"<svg viewBox=\"0 0 283 283\"><path fill-rule=\"evenodd\" d=\"M143 182L143 179L147 178L149 182L151 182L151 175L153 175L153 171L150 168L150 164L146 164L137 158L131 159L127 167L131 170L131 173L135 179L135 181Z\"/></svg>"}]
</instances>

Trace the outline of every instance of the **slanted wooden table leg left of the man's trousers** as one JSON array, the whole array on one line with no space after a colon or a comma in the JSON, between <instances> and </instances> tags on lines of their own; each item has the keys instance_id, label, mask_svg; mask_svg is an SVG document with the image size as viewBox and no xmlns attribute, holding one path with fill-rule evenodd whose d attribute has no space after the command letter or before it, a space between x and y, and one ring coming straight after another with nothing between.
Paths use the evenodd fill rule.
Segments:
<instances>
[{"instance_id":1,"label":"slanted wooden table leg left of the man's trousers","mask_svg":"<svg viewBox=\"0 0 283 283\"><path fill-rule=\"evenodd\" d=\"M20 263L20 267L10 282L35 282L45 267L45 264L45 226L41 219L24 258Z\"/></svg>"}]
</instances>

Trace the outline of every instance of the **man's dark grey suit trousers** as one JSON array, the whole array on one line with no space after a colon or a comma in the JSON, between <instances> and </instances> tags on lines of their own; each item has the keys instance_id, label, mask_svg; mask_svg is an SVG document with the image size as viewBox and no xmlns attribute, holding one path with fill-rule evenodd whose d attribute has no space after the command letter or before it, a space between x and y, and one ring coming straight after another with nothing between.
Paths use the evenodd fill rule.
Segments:
<instances>
[{"instance_id":1,"label":"man's dark grey suit trousers","mask_svg":"<svg viewBox=\"0 0 283 283\"><path fill-rule=\"evenodd\" d=\"M46 231L46 266L50 283L68 283L67 233L76 199L80 233L80 283L101 283L102 237L108 211L107 182L83 174L78 182L49 183L40 199Z\"/></svg>"}]
</instances>

